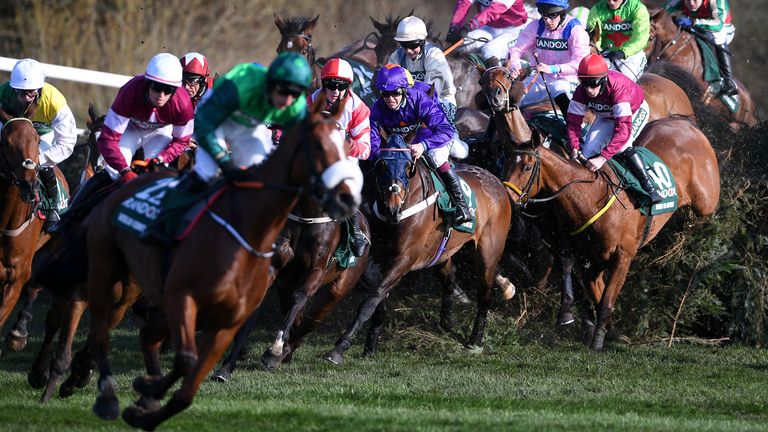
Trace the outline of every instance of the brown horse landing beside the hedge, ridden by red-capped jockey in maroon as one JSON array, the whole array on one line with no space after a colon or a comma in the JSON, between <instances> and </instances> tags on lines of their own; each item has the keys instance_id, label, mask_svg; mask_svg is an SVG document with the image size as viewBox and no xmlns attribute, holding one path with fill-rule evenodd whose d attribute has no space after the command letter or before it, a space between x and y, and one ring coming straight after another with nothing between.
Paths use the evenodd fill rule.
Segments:
<instances>
[{"instance_id":1,"label":"brown horse landing beside the hedge, ridden by red-capped jockey in maroon","mask_svg":"<svg viewBox=\"0 0 768 432\"><path fill-rule=\"evenodd\" d=\"M524 123L523 123L524 124ZM606 328L616 298L638 249L661 230L672 217L663 213L644 216L635 209L627 193L617 188L615 174L590 172L559 152L528 141L530 147L509 147L516 157L506 178L520 191L519 203L550 200L551 209L571 234L576 253L590 263L588 283L598 306L591 346L603 348ZM679 206L690 205L699 215L711 215L720 196L720 173L709 140L689 120L666 118L649 123L635 142L656 153L675 179ZM623 205L611 205L618 199ZM594 216L602 213L594 220ZM589 224L587 221L592 220ZM608 272L607 284L603 275Z\"/></svg>"}]
</instances>

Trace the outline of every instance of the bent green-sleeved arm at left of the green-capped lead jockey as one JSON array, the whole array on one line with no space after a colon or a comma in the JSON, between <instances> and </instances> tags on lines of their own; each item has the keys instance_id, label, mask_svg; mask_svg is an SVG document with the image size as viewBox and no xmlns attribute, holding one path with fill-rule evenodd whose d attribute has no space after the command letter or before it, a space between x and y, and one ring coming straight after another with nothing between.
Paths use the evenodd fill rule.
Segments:
<instances>
[{"instance_id":1,"label":"bent green-sleeved arm at left of the green-capped lead jockey","mask_svg":"<svg viewBox=\"0 0 768 432\"><path fill-rule=\"evenodd\" d=\"M222 79L211 95L197 106L195 113L195 137L199 147L219 165L230 160L229 153L216 139L216 129L230 114L240 107L240 96L232 81Z\"/></svg>"}]
</instances>

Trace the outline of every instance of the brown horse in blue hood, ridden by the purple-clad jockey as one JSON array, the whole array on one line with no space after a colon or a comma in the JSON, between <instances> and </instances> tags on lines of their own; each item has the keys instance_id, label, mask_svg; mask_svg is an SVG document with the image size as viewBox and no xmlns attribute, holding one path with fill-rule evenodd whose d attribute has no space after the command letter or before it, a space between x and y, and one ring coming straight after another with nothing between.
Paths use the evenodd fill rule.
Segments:
<instances>
[{"instance_id":1,"label":"brown horse in blue hood, ridden by the purple-clad jockey","mask_svg":"<svg viewBox=\"0 0 768 432\"><path fill-rule=\"evenodd\" d=\"M382 137L386 134L382 131ZM437 266L444 280L441 325L452 326L453 317L448 301L455 283L453 256L466 244L473 243L473 257L481 283L478 289L477 313L468 340L469 345L482 344L486 316L494 282L511 298L514 287L496 273L496 265L504 251L512 221L512 208L504 186L498 178L482 168L457 165L456 172L471 188L477 201L473 233L454 230L449 222L438 216L436 189L423 159L413 161L407 142L413 139L390 135L382 147L382 157L375 164L377 196L371 212L383 222L374 226L375 248L366 273L376 277L373 292L360 305L357 315L336 346L323 355L326 360L343 364L344 352L368 319L373 316L366 354L373 354L378 344L384 319L384 300L407 273Z\"/></svg>"}]
</instances>

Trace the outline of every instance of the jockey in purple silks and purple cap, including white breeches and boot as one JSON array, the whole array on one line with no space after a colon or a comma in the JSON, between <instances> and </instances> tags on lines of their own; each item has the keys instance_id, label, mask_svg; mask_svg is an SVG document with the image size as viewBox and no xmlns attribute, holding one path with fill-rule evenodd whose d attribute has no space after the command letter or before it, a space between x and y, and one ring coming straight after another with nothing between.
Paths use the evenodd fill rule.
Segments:
<instances>
[{"instance_id":1,"label":"jockey in purple silks and purple cap, including white breeches and boot","mask_svg":"<svg viewBox=\"0 0 768 432\"><path fill-rule=\"evenodd\" d=\"M474 216L464 199L456 171L448 161L448 144L453 136L453 127L440 106L426 93L410 88L406 71L400 66L381 68L376 78L376 87L381 98L371 109L372 159L379 157L379 127L388 133L401 135L417 130L414 143L410 144L411 155L415 160L424 152L427 153L456 204L455 222L461 224L471 221Z\"/></svg>"}]
</instances>

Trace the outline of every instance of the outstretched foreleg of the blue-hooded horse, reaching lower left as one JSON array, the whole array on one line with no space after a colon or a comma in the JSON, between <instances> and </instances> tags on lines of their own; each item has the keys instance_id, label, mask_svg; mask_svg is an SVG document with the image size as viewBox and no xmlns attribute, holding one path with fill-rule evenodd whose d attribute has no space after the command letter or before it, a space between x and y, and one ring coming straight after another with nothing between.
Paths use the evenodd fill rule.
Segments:
<instances>
[{"instance_id":1,"label":"outstretched foreleg of the blue-hooded horse, reaching lower left","mask_svg":"<svg viewBox=\"0 0 768 432\"><path fill-rule=\"evenodd\" d=\"M375 266L376 264L371 262L369 265ZM344 352L352 346L352 341L362 330L363 325L371 318L379 303L389 295L392 288L400 282L400 279L412 266L413 263L405 259L400 259L394 263L382 280L381 285L360 304L355 320L336 342L336 346L323 355L325 360L338 365L344 363Z\"/></svg>"}]
</instances>

